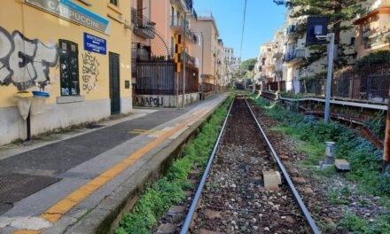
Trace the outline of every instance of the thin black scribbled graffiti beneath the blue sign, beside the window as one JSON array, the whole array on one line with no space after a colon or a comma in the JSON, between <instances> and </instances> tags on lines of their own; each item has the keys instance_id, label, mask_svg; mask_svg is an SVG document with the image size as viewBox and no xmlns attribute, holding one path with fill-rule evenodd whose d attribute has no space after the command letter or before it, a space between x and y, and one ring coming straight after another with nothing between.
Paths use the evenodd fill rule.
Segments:
<instances>
[{"instance_id":1,"label":"thin black scribbled graffiti beneath the blue sign, beside the window","mask_svg":"<svg viewBox=\"0 0 390 234\"><path fill-rule=\"evenodd\" d=\"M97 87L98 83L98 59L90 51L82 55L82 90L90 93Z\"/></svg>"}]
</instances>

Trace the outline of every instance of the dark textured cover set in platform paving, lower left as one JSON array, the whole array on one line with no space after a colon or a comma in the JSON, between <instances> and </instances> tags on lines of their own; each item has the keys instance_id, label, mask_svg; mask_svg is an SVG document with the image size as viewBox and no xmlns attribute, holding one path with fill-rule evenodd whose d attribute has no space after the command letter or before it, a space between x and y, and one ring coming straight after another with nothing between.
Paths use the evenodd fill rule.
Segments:
<instances>
[{"instance_id":1,"label":"dark textured cover set in platform paving, lower left","mask_svg":"<svg viewBox=\"0 0 390 234\"><path fill-rule=\"evenodd\" d=\"M0 204L14 203L58 182L60 179L42 175L0 175Z\"/></svg>"}]
</instances>

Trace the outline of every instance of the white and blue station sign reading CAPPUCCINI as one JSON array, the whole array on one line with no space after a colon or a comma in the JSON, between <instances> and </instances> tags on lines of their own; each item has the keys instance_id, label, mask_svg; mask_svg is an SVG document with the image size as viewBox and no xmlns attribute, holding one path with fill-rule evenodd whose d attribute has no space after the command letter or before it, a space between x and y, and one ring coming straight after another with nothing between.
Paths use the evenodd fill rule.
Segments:
<instances>
[{"instance_id":1,"label":"white and blue station sign reading CAPPUCCINI","mask_svg":"<svg viewBox=\"0 0 390 234\"><path fill-rule=\"evenodd\" d=\"M106 35L110 34L109 20L90 12L69 0L25 0L25 2L58 15L59 17L95 29L98 32Z\"/></svg>"}]
</instances>

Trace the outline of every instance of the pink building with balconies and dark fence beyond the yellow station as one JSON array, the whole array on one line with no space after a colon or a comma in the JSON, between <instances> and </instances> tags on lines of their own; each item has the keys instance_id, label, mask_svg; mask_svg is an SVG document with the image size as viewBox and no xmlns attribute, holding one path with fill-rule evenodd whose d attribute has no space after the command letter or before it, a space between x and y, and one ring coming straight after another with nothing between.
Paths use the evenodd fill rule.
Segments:
<instances>
[{"instance_id":1,"label":"pink building with balconies and dark fence beyond the yellow station","mask_svg":"<svg viewBox=\"0 0 390 234\"><path fill-rule=\"evenodd\" d=\"M198 35L191 31L197 14L192 0L133 1L138 39L133 43L133 104L178 107L199 100L199 59L192 56ZM174 61L175 35L181 35L183 44L180 72ZM151 98L156 101L147 101Z\"/></svg>"}]
</instances>

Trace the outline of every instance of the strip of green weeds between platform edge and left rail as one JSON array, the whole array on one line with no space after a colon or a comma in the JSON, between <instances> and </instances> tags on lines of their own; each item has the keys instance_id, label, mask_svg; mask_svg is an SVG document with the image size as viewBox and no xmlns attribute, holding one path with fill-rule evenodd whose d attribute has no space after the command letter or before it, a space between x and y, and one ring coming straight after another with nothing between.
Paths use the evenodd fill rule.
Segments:
<instances>
[{"instance_id":1,"label":"strip of green weeds between platform edge and left rail","mask_svg":"<svg viewBox=\"0 0 390 234\"><path fill-rule=\"evenodd\" d=\"M150 229L168 208L185 199L184 191L192 188L187 180L189 172L195 163L201 168L206 167L232 99L228 98L200 129L198 136L185 146L183 158L175 160L167 175L152 183L131 212L124 214L116 234L151 233Z\"/></svg>"}]
</instances>

